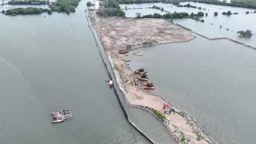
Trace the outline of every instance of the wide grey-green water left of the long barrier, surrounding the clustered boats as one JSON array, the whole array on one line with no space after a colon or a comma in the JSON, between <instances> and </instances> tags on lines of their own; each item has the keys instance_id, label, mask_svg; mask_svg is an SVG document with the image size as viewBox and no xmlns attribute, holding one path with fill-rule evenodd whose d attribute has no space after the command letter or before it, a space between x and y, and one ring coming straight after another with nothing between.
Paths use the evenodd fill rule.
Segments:
<instances>
[{"instance_id":1,"label":"wide grey-green water left of the long barrier, surrounding the clustered boats","mask_svg":"<svg viewBox=\"0 0 256 144\"><path fill-rule=\"evenodd\" d=\"M85 6L70 15L0 14L0 143L149 143L104 81ZM73 119L51 124L50 112L63 108Z\"/></svg>"}]
</instances>

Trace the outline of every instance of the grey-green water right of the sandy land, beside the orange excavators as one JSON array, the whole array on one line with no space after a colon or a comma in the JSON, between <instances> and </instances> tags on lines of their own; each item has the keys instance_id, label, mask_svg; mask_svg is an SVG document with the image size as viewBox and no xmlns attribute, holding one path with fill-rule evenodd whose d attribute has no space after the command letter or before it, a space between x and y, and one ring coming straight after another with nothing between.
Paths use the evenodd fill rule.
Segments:
<instances>
[{"instance_id":1,"label":"grey-green water right of the sandy land, beside the orange excavators","mask_svg":"<svg viewBox=\"0 0 256 144\"><path fill-rule=\"evenodd\" d=\"M186 110L220 143L256 142L255 50L197 37L132 52L130 67L148 70L149 82L156 85L150 94Z\"/></svg>"}]
</instances>

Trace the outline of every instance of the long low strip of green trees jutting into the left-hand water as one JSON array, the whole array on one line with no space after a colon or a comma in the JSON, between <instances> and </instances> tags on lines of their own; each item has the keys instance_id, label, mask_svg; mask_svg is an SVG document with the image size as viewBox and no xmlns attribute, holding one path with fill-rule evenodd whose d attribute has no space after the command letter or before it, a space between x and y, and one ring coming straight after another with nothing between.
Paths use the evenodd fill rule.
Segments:
<instances>
[{"instance_id":1,"label":"long low strip of green trees jutting into the left-hand water","mask_svg":"<svg viewBox=\"0 0 256 144\"><path fill-rule=\"evenodd\" d=\"M18 9L10 9L6 10L6 15L17 15L17 14L38 14L42 12L47 12L49 9L42 9L37 7L27 7L27 8L18 8Z\"/></svg>"}]
</instances>

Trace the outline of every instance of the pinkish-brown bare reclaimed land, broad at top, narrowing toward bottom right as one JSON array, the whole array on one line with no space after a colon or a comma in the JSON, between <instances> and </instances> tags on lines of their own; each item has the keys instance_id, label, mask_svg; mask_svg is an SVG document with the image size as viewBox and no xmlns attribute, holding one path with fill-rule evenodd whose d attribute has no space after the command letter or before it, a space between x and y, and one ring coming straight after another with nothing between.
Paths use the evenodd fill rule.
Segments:
<instances>
[{"instance_id":1,"label":"pinkish-brown bare reclaimed land, broad at top, narrowing toward bottom right","mask_svg":"<svg viewBox=\"0 0 256 144\"><path fill-rule=\"evenodd\" d=\"M168 102L161 97L146 94L139 85L132 84L137 81L137 76L122 60L118 50L146 46L148 44L142 43L153 40L157 41L153 45L186 42L195 38L193 33L163 19L101 18L95 11L89 13L89 18L97 30L126 101L131 106L144 108L151 113L156 109L164 115L166 109L163 109L163 105ZM177 107L171 108L175 109L175 113L166 114L167 120L163 123L173 138L181 143L215 143L189 114Z\"/></svg>"}]
</instances>

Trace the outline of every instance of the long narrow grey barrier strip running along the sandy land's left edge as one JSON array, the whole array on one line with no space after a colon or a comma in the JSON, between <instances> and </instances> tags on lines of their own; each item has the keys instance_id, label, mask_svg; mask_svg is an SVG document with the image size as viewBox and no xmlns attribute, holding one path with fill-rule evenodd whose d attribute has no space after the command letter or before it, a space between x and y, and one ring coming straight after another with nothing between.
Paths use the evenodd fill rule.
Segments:
<instances>
[{"instance_id":1,"label":"long narrow grey barrier strip running along the sandy land's left edge","mask_svg":"<svg viewBox=\"0 0 256 144\"><path fill-rule=\"evenodd\" d=\"M87 20L88 20L88 22L89 22L89 27L91 28L91 30L92 30L92 32L93 32L93 36L94 36L95 41L96 41L96 44L97 44L97 46L98 46L98 48L99 48L99 52L100 52L102 61L103 61L104 65L105 65L105 67L106 67L106 69L107 69L107 71L108 71L108 75L109 75L109 77L110 77L110 78L113 80L113 82L114 82L113 87L114 87L115 94L117 95L118 101L119 101L120 105L122 106L122 109L123 109L123 111L124 111L124 114L125 114L127 120L129 121L129 123L130 123L136 130L138 130L138 131L139 131L145 138L147 138L151 143L156 144L157 142L156 142L153 138L151 138L150 135L148 135L146 132L144 132L138 125L136 125L136 124L132 121L132 119L130 118L130 116L126 113L126 110L125 110L125 106L124 106L124 104L123 104L123 101L120 99L120 97L121 97L120 95L122 95L122 92L121 92L121 93L118 92L118 91L120 91L120 89L117 89L116 86L115 86L115 85L118 85L118 84L116 83L117 81L116 81L116 79L115 79L114 71L110 71L110 70L108 69L109 67L111 68L111 65L110 65L109 61L106 61L106 59L108 59L108 58L107 58L107 55L106 55L106 53L105 53L105 51L104 51L104 49L103 49L103 47L102 47L102 45L101 45L101 42L98 41L99 38L98 38L97 31L96 31L93 27L91 27L92 23L91 23L91 21L90 21L90 18L88 17L88 11L86 11L86 18L87 18ZM101 48L102 48L102 49L101 49ZM112 68L111 68L111 69L112 69ZM133 132L132 132L132 133L133 133Z\"/></svg>"}]
</instances>

